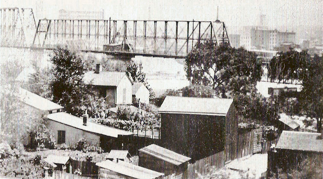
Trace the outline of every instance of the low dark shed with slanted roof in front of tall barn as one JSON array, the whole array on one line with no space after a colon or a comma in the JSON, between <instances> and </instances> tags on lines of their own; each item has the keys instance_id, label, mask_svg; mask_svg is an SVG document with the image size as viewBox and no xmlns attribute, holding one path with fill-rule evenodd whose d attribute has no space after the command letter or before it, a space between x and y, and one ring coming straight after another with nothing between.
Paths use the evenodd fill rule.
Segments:
<instances>
[{"instance_id":1,"label":"low dark shed with slanted roof in front of tall barn","mask_svg":"<svg viewBox=\"0 0 323 179\"><path fill-rule=\"evenodd\" d=\"M187 164L191 158L161 146L151 144L139 149L139 166L176 178L187 178Z\"/></svg>"}]
</instances>

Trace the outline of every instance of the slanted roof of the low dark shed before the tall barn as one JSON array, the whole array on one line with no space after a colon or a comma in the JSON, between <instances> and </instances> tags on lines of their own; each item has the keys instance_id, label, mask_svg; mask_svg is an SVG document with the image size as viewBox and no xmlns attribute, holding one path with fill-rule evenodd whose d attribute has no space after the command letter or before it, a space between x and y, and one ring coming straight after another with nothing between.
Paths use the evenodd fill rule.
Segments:
<instances>
[{"instance_id":1,"label":"slanted roof of the low dark shed before the tall barn","mask_svg":"<svg viewBox=\"0 0 323 179\"><path fill-rule=\"evenodd\" d=\"M184 156L182 154L178 154L176 152L165 149L165 148L158 146L156 144L151 144L146 147L143 147L143 148L139 149L139 151L143 152L145 154L152 155L154 157L157 157L161 160L164 160L164 161L169 162L174 165L180 165L184 162L191 160L190 157Z\"/></svg>"}]
</instances>

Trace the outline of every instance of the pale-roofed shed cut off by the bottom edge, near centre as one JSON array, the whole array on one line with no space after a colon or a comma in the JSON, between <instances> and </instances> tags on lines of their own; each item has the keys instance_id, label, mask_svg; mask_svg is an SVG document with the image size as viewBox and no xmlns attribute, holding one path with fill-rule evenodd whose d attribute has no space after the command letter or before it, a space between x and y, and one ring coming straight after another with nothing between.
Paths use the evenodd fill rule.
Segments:
<instances>
[{"instance_id":1,"label":"pale-roofed shed cut off by the bottom edge, near centre","mask_svg":"<svg viewBox=\"0 0 323 179\"><path fill-rule=\"evenodd\" d=\"M110 160L106 160L98 162L96 165L99 166L100 179L160 179L164 176L163 173L123 161L115 163Z\"/></svg>"}]
</instances>

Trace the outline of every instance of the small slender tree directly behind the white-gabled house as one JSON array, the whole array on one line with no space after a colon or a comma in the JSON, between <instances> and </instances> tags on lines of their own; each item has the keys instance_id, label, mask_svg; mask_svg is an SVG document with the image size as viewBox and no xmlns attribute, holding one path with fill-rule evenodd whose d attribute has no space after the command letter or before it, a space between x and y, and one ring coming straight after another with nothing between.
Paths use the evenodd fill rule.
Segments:
<instances>
[{"instance_id":1,"label":"small slender tree directly behind the white-gabled house","mask_svg":"<svg viewBox=\"0 0 323 179\"><path fill-rule=\"evenodd\" d=\"M150 93L150 99L153 99L155 97L155 93L147 82L146 74L142 71L142 63L137 64L136 62L131 60L127 65L126 74L131 77L134 82L140 82L146 86Z\"/></svg>"}]
</instances>

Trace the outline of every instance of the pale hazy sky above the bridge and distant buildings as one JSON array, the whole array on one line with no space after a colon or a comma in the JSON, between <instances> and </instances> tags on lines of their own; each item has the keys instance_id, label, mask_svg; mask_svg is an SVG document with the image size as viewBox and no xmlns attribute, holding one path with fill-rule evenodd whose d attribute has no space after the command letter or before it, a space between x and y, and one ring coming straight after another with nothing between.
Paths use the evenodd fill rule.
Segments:
<instances>
[{"instance_id":1,"label":"pale hazy sky above the bridge and distant buildings","mask_svg":"<svg viewBox=\"0 0 323 179\"><path fill-rule=\"evenodd\" d=\"M323 31L323 0L1 0L1 7L32 7L36 20L58 18L60 9L104 10L105 18L117 20L219 20L229 33L257 25L265 15L269 29L294 31L298 39L316 37ZM322 36L322 35L321 35Z\"/></svg>"}]
</instances>

